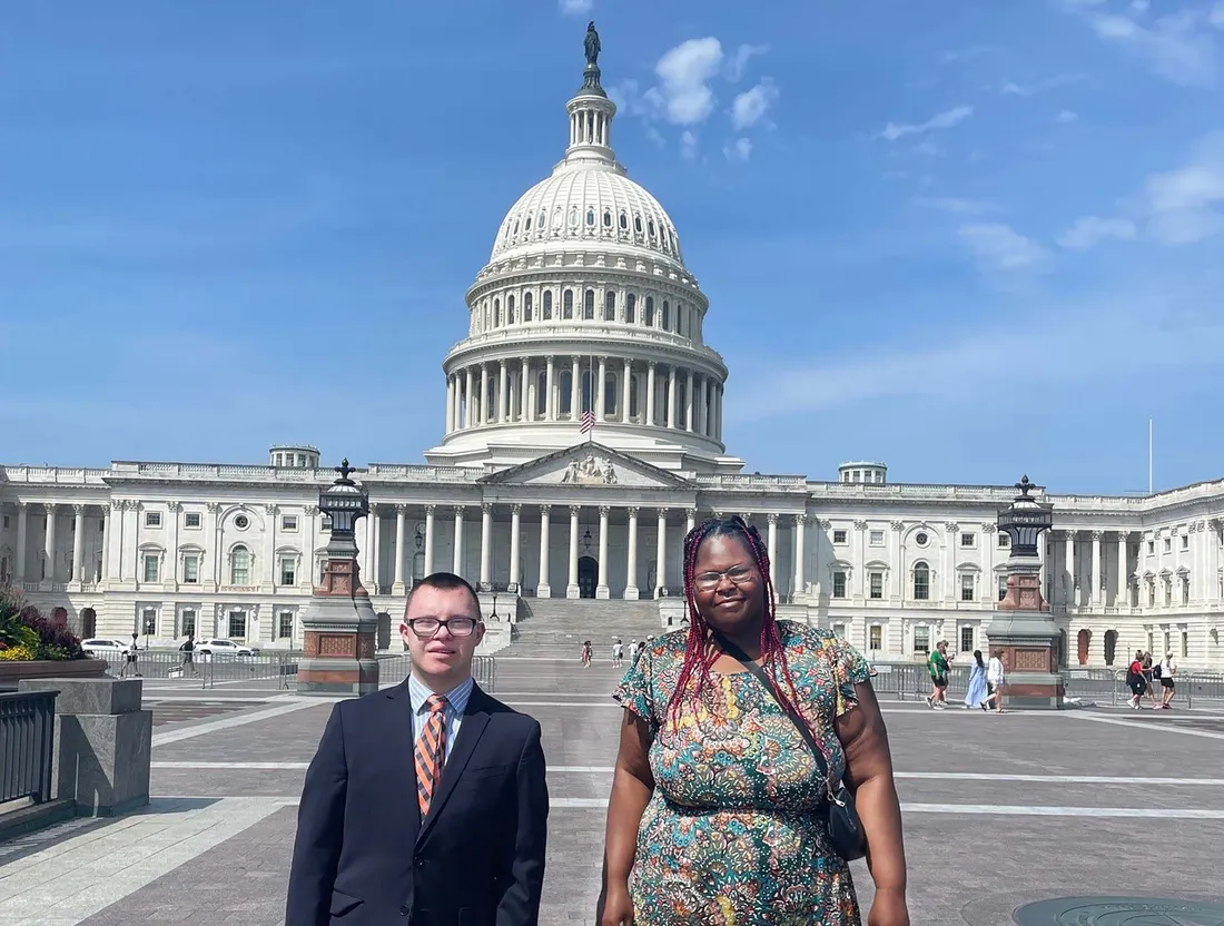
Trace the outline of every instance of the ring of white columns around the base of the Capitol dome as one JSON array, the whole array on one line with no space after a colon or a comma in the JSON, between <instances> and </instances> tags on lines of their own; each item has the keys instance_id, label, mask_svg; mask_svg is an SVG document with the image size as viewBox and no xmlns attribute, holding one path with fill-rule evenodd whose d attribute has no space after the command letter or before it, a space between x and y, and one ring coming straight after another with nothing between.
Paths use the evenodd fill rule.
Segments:
<instances>
[{"instance_id":1,"label":"ring of white columns around the base of the Capitol dome","mask_svg":"<svg viewBox=\"0 0 1224 926\"><path fill-rule=\"evenodd\" d=\"M570 356L569 412L562 410L561 371L564 360L547 356L541 363L521 360L491 360L470 364L447 377L447 434L479 427L487 424L514 424L530 421L577 420L583 410L584 374L594 375L594 405L597 420L617 420L633 424L666 426L700 434L716 441L722 440L722 382L714 376L677 365L661 365L654 360L634 361L628 358L613 360L600 356L591 363L585 356ZM645 383L640 371L645 367ZM660 369L662 367L662 369ZM608 371L619 374L619 403L617 412L607 414ZM543 372L545 404L540 409L539 378ZM634 405L633 377L638 374L638 414ZM656 383L665 383L662 408L656 408ZM681 385L687 399L681 402ZM491 397L492 393L492 397ZM644 394L643 394L644 393ZM491 401L490 401L491 397ZM645 415L641 409L645 405ZM601 414L601 410L602 414Z\"/></svg>"}]
</instances>

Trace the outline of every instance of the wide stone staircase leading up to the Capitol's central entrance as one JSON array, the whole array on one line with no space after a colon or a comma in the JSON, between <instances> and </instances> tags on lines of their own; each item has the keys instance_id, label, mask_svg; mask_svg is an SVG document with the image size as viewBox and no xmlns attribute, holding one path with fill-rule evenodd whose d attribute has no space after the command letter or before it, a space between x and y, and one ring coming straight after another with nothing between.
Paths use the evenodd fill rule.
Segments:
<instances>
[{"instance_id":1,"label":"wide stone staircase leading up to the Capitol's central entrance","mask_svg":"<svg viewBox=\"0 0 1224 926\"><path fill-rule=\"evenodd\" d=\"M596 660L606 660L612 641L666 633L659 603L594 598L524 598L513 642L497 655L578 660L583 641L591 641Z\"/></svg>"}]
</instances>

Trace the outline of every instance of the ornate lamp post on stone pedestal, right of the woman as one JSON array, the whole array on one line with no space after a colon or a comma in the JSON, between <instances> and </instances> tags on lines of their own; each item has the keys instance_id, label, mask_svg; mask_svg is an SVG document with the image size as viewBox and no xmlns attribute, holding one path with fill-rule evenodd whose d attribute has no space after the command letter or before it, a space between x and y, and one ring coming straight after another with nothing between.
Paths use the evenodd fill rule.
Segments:
<instances>
[{"instance_id":1,"label":"ornate lamp post on stone pedestal, right of the woman","mask_svg":"<svg viewBox=\"0 0 1224 926\"><path fill-rule=\"evenodd\" d=\"M1059 628L1042 598L1042 561L1038 543L1054 521L1054 506L1029 497L1034 489L1026 475L1020 495L999 512L999 530L1011 539L1007 559L1007 594L999 603L987 638L991 653L1006 659L1004 702L1009 707L1062 707L1065 693L1059 675Z\"/></svg>"}]
</instances>

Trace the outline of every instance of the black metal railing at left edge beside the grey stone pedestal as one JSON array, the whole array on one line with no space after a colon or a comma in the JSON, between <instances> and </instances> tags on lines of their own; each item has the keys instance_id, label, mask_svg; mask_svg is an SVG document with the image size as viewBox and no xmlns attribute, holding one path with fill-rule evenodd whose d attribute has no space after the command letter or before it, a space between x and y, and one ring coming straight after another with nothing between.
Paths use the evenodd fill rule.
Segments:
<instances>
[{"instance_id":1,"label":"black metal railing at left edge beside the grey stone pedestal","mask_svg":"<svg viewBox=\"0 0 1224 926\"><path fill-rule=\"evenodd\" d=\"M58 691L0 692L0 804L51 799Z\"/></svg>"}]
</instances>

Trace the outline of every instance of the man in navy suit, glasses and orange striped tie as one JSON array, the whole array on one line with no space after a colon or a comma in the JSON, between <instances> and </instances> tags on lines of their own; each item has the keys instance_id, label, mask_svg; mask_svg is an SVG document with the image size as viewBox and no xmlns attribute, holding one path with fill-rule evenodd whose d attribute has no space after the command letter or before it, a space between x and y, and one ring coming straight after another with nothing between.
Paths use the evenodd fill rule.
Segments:
<instances>
[{"instance_id":1,"label":"man in navy suit, glasses and orange striped tie","mask_svg":"<svg viewBox=\"0 0 1224 926\"><path fill-rule=\"evenodd\" d=\"M459 576L412 589L409 677L338 703L306 772L285 926L537 924L540 724L475 683L483 633Z\"/></svg>"}]
</instances>

